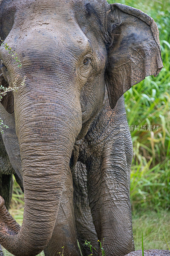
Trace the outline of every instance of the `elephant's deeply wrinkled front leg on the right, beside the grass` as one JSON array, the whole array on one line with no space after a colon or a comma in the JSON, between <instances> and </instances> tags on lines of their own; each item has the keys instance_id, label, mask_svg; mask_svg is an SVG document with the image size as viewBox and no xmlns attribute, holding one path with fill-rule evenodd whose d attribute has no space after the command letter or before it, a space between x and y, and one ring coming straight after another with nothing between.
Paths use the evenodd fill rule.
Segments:
<instances>
[{"instance_id":1,"label":"elephant's deeply wrinkled front leg on the right, beside the grass","mask_svg":"<svg viewBox=\"0 0 170 256\"><path fill-rule=\"evenodd\" d=\"M129 130L129 129L128 129ZM98 239L106 255L121 256L134 250L130 204L130 134L107 138L102 155L93 152L87 163L87 187Z\"/></svg>"}]
</instances>

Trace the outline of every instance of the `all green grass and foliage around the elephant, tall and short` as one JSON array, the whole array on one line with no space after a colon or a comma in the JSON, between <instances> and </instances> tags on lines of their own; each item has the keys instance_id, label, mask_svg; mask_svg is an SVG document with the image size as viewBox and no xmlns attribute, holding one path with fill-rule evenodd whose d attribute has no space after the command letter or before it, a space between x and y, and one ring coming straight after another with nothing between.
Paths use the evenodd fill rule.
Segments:
<instances>
[{"instance_id":1,"label":"all green grass and foliage around the elephant, tall and short","mask_svg":"<svg viewBox=\"0 0 170 256\"><path fill-rule=\"evenodd\" d=\"M135 249L141 249L142 229L144 249L168 249L162 232L170 244L170 2L117 2L147 13L159 28L164 68L157 77L146 77L124 96L128 124L133 126L130 192ZM135 125L139 130L134 131ZM140 131L141 125L152 125L152 128L158 125L159 128L158 131ZM10 212L19 223L23 218L23 204L23 194L14 182ZM5 251L5 255L11 254Z\"/></svg>"}]
</instances>

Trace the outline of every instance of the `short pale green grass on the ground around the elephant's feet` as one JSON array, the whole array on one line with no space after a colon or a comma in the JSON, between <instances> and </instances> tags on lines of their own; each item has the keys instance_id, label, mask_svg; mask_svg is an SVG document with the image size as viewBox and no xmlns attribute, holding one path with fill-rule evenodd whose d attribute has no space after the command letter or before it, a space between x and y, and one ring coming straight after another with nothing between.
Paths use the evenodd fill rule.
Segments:
<instances>
[{"instance_id":1,"label":"short pale green grass on the ground around the elephant's feet","mask_svg":"<svg viewBox=\"0 0 170 256\"><path fill-rule=\"evenodd\" d=\"M23 210L12 211L14 217L18 222L22 223ZM165 249L168 250L167 243L170 244L170 212L161 210L160 212L149 211L133 212L132 214L133 238L135 243L135 250L142 249L142 231L144 250L148 249ZM164 235L166 240L164 238ZM62 246L62 245L61 245ZM4 250L6 256L12 256L9 252ZM44 253L40 253L43 256Z\"/></svg>"}]
</instances>

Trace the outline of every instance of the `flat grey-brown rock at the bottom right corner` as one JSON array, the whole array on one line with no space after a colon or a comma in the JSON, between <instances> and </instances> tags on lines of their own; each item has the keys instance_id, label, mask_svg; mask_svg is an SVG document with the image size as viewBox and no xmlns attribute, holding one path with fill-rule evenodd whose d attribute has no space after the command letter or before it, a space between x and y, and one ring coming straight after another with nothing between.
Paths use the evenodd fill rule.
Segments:
<instances>
[{"instance_id":1,"label":"flat grey-brown rock at the bottom right corner","mask_svg":"<svg viewBox=\"0 0 170 256\"><path fill-rule=\"evenodd\" d=\"M142 250L130 252L125 256L142 256ZM144 256L170 256L170 251L167 250L144 250Z\"/></svg>"}]
</instances>

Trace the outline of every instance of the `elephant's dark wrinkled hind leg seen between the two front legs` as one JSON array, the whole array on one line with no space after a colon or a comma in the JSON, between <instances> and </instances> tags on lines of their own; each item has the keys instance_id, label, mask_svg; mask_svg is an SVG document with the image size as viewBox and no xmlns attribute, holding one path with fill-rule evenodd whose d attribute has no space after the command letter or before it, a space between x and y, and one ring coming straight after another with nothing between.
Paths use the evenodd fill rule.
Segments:
<instances>
[{"instance_id":1,"label":"elephant's dark wrinkled hind leg seen between the two front legs","mask_svg":"<svg viewBox=\"0 0 170 256\"><path fill-rule=\"evenodd\" d=\"M87 193L87 170L81 162L77 162L72 170L73 188L74 188L74 215L77 230L77 239L80 244L83 256L89 255L89 247L83 246L84 241L90 241L96 247L97 235L93 224L91 210L89 207L89 198ZM97 255L96 252L93 255Z\"/></svg>"}]
</instances>

